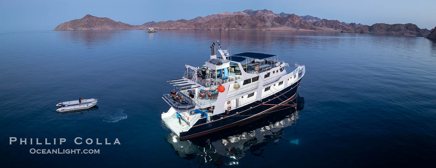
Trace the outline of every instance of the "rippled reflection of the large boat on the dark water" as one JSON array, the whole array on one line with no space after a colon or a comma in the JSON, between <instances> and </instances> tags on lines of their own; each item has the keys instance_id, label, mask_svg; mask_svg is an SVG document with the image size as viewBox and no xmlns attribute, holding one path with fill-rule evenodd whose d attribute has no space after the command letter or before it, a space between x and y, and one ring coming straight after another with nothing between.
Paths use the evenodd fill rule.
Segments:
<instances>
[{"instance_id":1,"label":"rippled reflection of the large boat on the dark water","mask_svg":"<svg viewBox=\"0 0 436 168\"><path fill-rule=\"evenodd\" d=\"M286 140L283 138L283 128L296 123L298 114L303 110L304 98L298 95L297 99L297 111L295 107L286 108L285 106L282 110L269 113L268 116L260 120L245 126L231 128L230 130L237 130L232 133L225 133L224 130L187 141L180 141L176 134L171 133L165 137L165 140L173 146L176 154L181 158L194 163L238 165L238 161L245 157L248 150L251 154L261 156L263 150L258 152L261 147L269 143L276 143L280 139L298 145L296 130L294 139ZM293 101L295 102L295 99ZM296 129L296 124L294 125Z\"/></svg>"}]
</instances>

